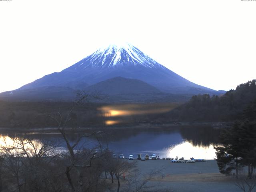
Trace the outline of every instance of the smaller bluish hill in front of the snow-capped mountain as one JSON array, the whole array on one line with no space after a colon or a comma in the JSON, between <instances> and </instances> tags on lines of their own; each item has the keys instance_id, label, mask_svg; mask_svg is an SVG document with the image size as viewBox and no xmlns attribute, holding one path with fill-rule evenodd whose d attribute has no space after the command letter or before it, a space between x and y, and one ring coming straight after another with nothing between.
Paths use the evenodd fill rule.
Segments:
<instances>
[{"instance_id":1,"label":"smaller bluish hill in front of the snow-capped mountain","mask_svg":"<svg viewBox=\"0 0 256 192\"><path fill-rule=\"evenodd\" d=\"M190 96L162 92L141 80L123 77L111 78L85 89L100 96L96 102L138 103L138 102L186 102Z\"/></svg>"}]
</instances>

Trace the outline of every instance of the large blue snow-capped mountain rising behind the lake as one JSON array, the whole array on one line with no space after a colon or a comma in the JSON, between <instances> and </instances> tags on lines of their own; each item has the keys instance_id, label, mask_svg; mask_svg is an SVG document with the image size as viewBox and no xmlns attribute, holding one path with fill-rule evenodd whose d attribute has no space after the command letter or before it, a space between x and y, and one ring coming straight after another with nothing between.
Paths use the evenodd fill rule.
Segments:
<instances>
[{"instance_id":1,"label":"large blue snow-capped mountain rising behind the lake","mask_svg":"<svg viewBox=\"0 0 256 192\"><path fill-rule=\"evenodd\" d=\"M138 82L135 83L134 80L138 80ZM100 92L103 87L107 86L106 84L112 84L111 89L108 90L109 94L124 92L128 94L128 90L186 95L224 93L224 91L212 90L190 82L159 64L138 48L125 44L100 48L61 72L48 74L17 90L4 92L0 94L0 98L22 99L28 98L29 95L31 98L38 99L67 99L72 98L74 92L79 89ZM113 86L114 84L118 86ZM127 90L124 91L127 86ZM121 87L122 91L119 92L118 89ZM106 93L106 89L104 92ZM136 91L131 91L131 94L136 94Z\"/></svg>"}]
</instances>

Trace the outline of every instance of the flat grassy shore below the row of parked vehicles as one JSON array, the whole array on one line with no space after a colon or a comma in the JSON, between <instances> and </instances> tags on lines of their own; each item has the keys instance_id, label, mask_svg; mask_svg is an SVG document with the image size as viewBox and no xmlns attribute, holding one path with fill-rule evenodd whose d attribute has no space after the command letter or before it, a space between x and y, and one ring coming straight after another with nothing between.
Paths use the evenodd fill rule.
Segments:
<instances>
[{"instance_id":1,"label":"flat grassy shore below the row of parked vehicles","mask_svg":"<svg viewBox=\"0 0 256 192\"><path fill-rule=\"evenodd\" d=\"M159 188L174 192L240 192L235 186L233 176L219 173L215 160L196 163L172 163L170 160L137 161L137 168L142 174L151 170L161 170L156 179ZM164 178L163 178L164 174Z\"/></svg>"}]
</instances>

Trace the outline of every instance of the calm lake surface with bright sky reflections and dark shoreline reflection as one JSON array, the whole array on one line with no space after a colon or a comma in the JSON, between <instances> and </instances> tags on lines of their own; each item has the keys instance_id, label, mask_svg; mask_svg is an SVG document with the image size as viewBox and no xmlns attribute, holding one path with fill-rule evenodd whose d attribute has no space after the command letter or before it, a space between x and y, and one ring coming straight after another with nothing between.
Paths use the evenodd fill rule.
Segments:
<instances>
[{"instance_id":1,"label":"calm lake surface with bright sky reflections and dark shoreline reflection","mask_svg":"<svg viewBox=\"0 0 256 192\"><path fill-rule=\"evenodd\" d=\"M205 158L214 159L214 146L218 145L219 130L207 126L170 126L167 128L154 129L107 129L108 134L98 136L103 148L109 148L116 154L124 154L125 157L138 153L157 154L160 158L189 159ZM69 134L71 143L81 135ZM14 137L22 137L19 133L2 132L1 140ZM65 149L66 145L61 134L57 133L30 133L29 137L39 141L50 141L58 144L59 148ZM81 140L80 146L86 148L98 147L98 140L94 136Z\"/></svg>"}]
</instances>

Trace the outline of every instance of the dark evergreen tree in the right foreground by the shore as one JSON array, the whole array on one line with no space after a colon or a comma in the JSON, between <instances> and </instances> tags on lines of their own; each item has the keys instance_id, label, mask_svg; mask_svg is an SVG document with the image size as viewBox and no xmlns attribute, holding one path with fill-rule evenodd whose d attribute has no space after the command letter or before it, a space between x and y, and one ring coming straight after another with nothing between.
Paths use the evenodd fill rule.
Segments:
<instances>
[{"instance_id":1,"label":"dark evergreen tree in the right foreground by the shore","mask_svg":"<svg viewBox=\"0 0 256 192\"><path fill-rule=\"evenodd\" d=\"M220 134L220 146L215 147L217 164L220 173L230 175L235 171L236 178L244 177L239 173L247 167L247 177L236 185L246 191L252 191L256 186L256 100L246 107L230 128L225 128ZM250 180L250 182L247 181Z\"/></svg>"}]
</instances>

